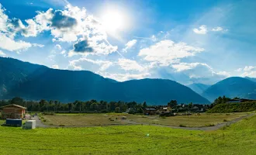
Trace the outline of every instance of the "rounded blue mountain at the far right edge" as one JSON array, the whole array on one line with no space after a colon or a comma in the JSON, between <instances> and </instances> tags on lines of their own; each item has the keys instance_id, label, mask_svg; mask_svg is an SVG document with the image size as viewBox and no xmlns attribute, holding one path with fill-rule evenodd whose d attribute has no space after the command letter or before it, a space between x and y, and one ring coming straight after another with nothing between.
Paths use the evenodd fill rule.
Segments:
<instances>
[{"instance_id":1,"label":"rounded blue mountain at the far right edge","mask_svg":"<svg viewBox=\"0 0 256 155\"><path fill-rule=\"evenodd\" d=\"M219 96L256 99L256 83L244 77L229 77L213 84L202 96L213 102Z\"/></svg>"}]
</instances>

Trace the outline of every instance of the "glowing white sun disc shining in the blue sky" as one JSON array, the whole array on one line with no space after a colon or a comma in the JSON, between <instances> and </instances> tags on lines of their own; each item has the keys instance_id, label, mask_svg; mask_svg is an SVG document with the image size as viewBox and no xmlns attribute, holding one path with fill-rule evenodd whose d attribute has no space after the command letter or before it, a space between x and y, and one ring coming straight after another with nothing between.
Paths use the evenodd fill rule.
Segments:
<instances>
[{"instance_id":1,"label":"glowing white sun disc shining in the blue sky","mask_svg":"<svg viewBox=\"0 0 256 155\"><path fill-rule=\"evenodd\" d=\"M102 15L102 25L107 31L116 32L125 29L125 15L118 11L108 11Z\"/></svg>"}]
</instances>

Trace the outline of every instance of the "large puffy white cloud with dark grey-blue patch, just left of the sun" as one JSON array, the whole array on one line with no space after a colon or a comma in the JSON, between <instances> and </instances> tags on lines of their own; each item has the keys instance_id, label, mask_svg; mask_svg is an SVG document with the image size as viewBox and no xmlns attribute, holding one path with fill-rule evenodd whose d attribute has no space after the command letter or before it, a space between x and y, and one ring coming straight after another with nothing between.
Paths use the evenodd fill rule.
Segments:
<instances>
[{"instance_id":1,"label":"large puffy white cloud with dark grey-blue patch, just left of the sun","mask_svg":"<svg viewBox=\"0 0 256 155\"><path fill-rule=\"evenodd\" d=\"M74 42L74 46L82 47L85 43L93 52L79 51L74 48L68 53L74 55L109 54L117 50L107 41L106 31L92 15L87 15L85 8L67 5L64 10L49 9L47 12L38 12L35 17L40 31L50 30L53 41ZM81 46L80 46L81 45Z\"/></svg>"}]
</instances>

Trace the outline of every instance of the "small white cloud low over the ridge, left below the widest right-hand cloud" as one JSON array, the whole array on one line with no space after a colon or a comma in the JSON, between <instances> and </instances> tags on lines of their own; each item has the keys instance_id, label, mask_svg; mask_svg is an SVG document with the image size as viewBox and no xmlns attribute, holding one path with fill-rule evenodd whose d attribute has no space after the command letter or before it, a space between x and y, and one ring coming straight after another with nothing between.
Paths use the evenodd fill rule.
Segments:
<instances>
[{"instance_id":1,"label":"small white cloud low over the ridge, left below the widest right-hand cloud","mask_svg":"<svg viewBox=\"0 0 256 155\"><path fill-rule=\"evenodd\" d=\"M130 59L118 59L118 64L125 71L144 71L144 67L140 66L135 60Z\"/></svg>"}]
</instances>

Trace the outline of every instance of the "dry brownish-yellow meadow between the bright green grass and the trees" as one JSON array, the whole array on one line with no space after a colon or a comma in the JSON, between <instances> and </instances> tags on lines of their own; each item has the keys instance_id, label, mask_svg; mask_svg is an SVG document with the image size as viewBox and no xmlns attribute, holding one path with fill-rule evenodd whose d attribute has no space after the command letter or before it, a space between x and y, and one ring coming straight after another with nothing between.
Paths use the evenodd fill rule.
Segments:
<instances>
[{"instance_id":1,"label":"dry brownish-yellow meadow between the bright green grass and the trees","mask_svg":"<svg viewBox=\"0 0 256 155\"><path fill-rule=\"evenodd\" d=\"M125 113L108 114L59 114L43 115L43 122L51 126L104 126L104 125L125 125L125 124L157 124L164 126L188 126L201 127L216 125L237 119L247 115L246 112L240 113L202 113L200 115L178 115L173 117L159 117L159 115L131 115ZM126 116L126 119L122 119Z\"/></svg>"}]
</instances>

